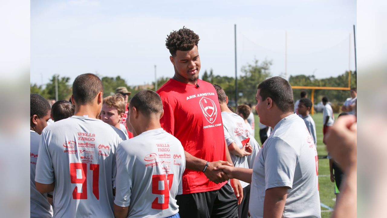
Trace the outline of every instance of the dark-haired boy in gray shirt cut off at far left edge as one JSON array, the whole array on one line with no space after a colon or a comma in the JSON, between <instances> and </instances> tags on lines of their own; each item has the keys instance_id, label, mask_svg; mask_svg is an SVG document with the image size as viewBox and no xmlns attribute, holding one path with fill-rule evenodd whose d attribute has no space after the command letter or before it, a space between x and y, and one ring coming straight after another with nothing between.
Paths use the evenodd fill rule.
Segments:
<instances>
[{"instance_id":1,"label":"dark-haired boy in gray shirt cut off at far left edge","mask_svg":"<svg viewBox=\"0 0 387 218\"><path fill-rule=\"evenodd\" d=\"M50 218L53 215L52 206L47 194L40 194L35 186L36 161L38 160L39 141L42 130L50 119L50 103L38 94L30 95L30 216L33 218Z\"/></svg>"}]
</instances>

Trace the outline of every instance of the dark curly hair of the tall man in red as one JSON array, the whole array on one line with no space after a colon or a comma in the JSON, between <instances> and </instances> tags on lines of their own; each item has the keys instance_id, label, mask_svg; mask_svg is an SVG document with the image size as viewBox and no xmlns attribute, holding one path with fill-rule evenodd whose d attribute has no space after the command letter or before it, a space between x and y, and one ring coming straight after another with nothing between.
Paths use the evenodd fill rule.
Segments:
<instances>
[{"instance_id":1,"label":"dark curly hair of the tall man in red","mask_svg":"<svg viewBox=\"0 0 387 218\"><path fill-rule=\"evenodd\" d=\"M167 36L165 46L170 50L173 57L176 56L176 51L189 51L199 43L199 36L194 31L182 28L178 31L173 31Z\"/></svg>"}]
</instances>

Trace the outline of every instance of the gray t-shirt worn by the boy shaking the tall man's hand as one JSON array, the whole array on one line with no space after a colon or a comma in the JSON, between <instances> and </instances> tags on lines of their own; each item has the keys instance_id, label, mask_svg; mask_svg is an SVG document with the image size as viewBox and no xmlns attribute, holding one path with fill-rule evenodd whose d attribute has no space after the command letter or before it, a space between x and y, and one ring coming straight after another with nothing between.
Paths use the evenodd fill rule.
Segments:
<instances>
[{"instance_id":1,"label":"gray t-shirt worn by the boy shaking the tall man's hand","mask_svg":"<svg viewBox=\"0 0 387 218\"><path fill-rule=\"evenodd\" d=\"M277 123L255 158L252 217L263 217L265 191L274 187L288 187L283 217L321 217L317 151L297 114Z\"/></svg>"}]
</instances>

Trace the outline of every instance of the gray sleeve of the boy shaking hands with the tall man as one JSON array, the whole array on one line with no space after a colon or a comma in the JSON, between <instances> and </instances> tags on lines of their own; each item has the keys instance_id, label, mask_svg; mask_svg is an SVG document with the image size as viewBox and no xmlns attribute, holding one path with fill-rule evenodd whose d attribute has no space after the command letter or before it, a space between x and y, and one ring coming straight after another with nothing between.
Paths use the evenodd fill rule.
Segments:
<instances>
[{"instance_id":1,"label":"gray sleeve of the boy shaking hands with the tall man","mask_svg":"<svg viewBox=\"0 0 387 218\"><path fill-rule=\"evenodd\" d=\"M265 144L265 189L293 187L298 162L295 150L280 138L271 138Z\"/></svg>"}]
</instances>

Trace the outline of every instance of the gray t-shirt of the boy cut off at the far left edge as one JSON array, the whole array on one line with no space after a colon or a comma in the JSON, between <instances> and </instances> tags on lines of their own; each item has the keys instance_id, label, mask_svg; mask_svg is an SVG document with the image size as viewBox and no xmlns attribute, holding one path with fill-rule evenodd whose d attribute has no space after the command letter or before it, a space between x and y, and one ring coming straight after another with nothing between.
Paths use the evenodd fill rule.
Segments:
<instances>
[{"instance_id":1,"label":"gray t-shirt of the boy cut off at the far left edge","mask_svg":"<svg viewBox=\"0 0 387 218\"><path fill-rule=\"evenodd\" d=\"M40 135L35 131L30 130L30 139L30 216L31 218L51 218L53 211L51 204L48 203L47 193L40 194L35 186L35 169L36 161L38 160Z\"/></svg>"}]
</instances>

